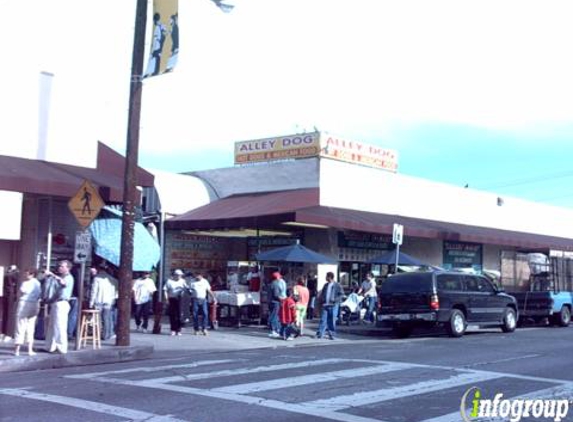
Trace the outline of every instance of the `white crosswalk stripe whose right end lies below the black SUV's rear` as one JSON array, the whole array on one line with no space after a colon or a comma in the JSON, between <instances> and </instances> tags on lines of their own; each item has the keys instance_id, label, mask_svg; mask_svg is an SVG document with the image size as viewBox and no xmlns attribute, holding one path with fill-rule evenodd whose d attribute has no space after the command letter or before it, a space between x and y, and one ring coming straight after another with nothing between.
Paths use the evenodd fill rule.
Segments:
<instances>
[{"instance_id":1,"label":"white crosswalk stripe whose right end lies below the black SUV's rear","mask_svg":"<svg viewBox=\"0 0 573 422\"><path fill-rule=\"evenodd\" d=\"M289 387L298 387L307 384L317 384L320 382L337 381L344 378L362 377L368 375L377 375L385 372L401 371L410 369L407 364L378 365L366 366L364 368L345 369L342 371L332 371L312 375L302 375L298 377L278 378L269 381L252 382L247 384L235 384L225 387L215 388L211 391L231 394L251 394L259 391L277 390Z\"/></svg>"}]
</instances>

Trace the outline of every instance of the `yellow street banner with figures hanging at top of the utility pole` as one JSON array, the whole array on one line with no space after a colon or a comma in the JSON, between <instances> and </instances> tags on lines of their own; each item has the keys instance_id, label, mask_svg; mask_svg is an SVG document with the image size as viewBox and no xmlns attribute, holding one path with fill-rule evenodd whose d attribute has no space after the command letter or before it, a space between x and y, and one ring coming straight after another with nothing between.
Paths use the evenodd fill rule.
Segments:
<instances>
[{"instance_id":1,"label":"yellow street banner with figures hanging at top of the utility pole","mask_svg":"<svg viewBox=\"0 0 573 422\"><path fill-rule=\"evenodd\" d=\"M149 60L144 78L172 72L179 55L178 0L153 0Z\"/></svg>"}]
</instances>

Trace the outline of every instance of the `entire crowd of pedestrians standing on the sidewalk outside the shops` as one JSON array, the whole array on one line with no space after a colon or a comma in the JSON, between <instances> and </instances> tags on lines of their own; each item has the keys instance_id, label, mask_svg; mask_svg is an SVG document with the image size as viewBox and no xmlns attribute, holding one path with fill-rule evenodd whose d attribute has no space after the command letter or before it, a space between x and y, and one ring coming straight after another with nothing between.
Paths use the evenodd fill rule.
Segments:
<instances>
[{"instance_id":1,"label":"entire crowd of pedestrians standing on the sidewalk outside the shops","mask_svg":"<svg viewBox=\"0 0 573 422\"><path fill-rule=\"evenodd\" d=\"M92 266L87 294L81 304L84 308L100 311L102 340L112 339L116 333L118 280L115 273L115 267L106 262ZM209 329L215 328L216 313L212 311L217 305L217 299L210 282L202 273L184 273L175 269L163 283L161 292L151 272L144 271L134 276L132 316L137 332L150 331L149 319L154 313L153 304L162 300L168 306L172 336L182 334L183 326L190 321L186 315L191 314L193 334L206 336ZM264 285L262 292L268 294L269 337L291 341L304 335L307 319L319 316L315 337L336 338L336 324L346 295L340 283L335 280L334 273L326 274L326 283L320 291L317 290L318 280L312 274L309 277L297 277L290 287L279 271L273 272L271 279L270 283ZM76 320L73 317L77 314L77 309L72 309L70 305L73 304L74 281L72 263L67 260L58 262L55 273L44 270L38 274L35 269L23 272L14 324L16 356L20 354L23 345L27 345L29 355L34 355L34 339L44 337L48 352L67 353L68 341L74 336ZM373 323L377 289L372 273L366 275L353 293L364 298L363 320ZM45 311L40 312L41 309ZM315 315L317 310L319 314ZM47 319L45 322L38 321L39 316L41 319L47 316ZM36 335L37 329L42 331L42 337Z\"/></svg>"}]
</instances>

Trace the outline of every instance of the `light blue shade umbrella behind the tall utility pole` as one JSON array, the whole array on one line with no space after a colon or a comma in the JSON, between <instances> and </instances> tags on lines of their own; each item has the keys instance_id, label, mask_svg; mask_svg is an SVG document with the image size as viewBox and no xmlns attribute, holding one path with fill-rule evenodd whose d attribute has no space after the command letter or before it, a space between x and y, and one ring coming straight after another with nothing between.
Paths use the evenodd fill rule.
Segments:
<instances>
[{"instance_id":1,"label":"light blue shade umbrella behind the tall utility pole","mask_svg":"<svg viewBox=\"0 0 573 422\"><path fill-rule=\"evenodd\" d=\"M105 207L90 225L94 253L119 267L121 252L120 211ZM142 223L133 230L133 271L149 271L159 262L161 251L157 241Z\"/></svg>"}]
</instances>

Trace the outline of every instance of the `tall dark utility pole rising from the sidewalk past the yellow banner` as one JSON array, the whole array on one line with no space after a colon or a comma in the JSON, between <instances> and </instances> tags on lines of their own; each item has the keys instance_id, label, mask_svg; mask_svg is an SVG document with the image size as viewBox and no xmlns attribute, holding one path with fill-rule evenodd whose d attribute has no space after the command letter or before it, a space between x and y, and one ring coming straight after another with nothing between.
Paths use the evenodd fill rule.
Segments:
<instances>
[{"instance_id":1,"label":"tall dark utility pole rising from the sidewalk past the yellow banner","mask_svg":"<svg viewBox=\"0 0 573 422\"><path fill-rule=\"evenodd\" d=\"M137 195L137 158L139 148L139 123L141 119L143 56L145 53L146 24L147 0L137 0L135 31L133 37L133 55L131 62L127 148L125 153L125 178L123 185L123 218L119 261L119 297L117 300L118 318L116 344L118 346L129 346L131 288L133 283L133 232L135 225L135 198Z\"/></svg>"}]
</instances>

